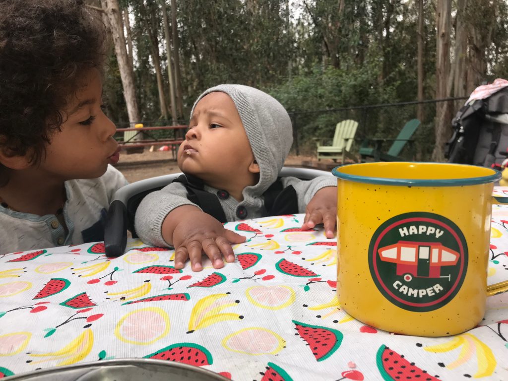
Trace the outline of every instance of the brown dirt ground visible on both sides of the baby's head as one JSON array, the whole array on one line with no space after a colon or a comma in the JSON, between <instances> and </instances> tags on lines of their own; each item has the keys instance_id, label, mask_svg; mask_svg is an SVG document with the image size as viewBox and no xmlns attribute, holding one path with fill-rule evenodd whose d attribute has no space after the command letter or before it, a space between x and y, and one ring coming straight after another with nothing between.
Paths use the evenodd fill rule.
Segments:
<instances>
[{"instance_id":1,"label":"brown dirt ground visible on both sides of the baby's head","mask_svg":"<svg viewBox=\"0 0 508 381\"><path fill-rule=\"evenodd\" d=\"M314 162L316 166L313 165ZM319 166L331 167L334 165L332 160L329 161L330 163L327 162L328 161L322 161ZM291 167L320 168L317 166L315 157L302 155L288 156L284 165ZM150 152L148 148L145 148L143 153L128 154L125 151L121 151L120 161L116 165L116 168L123 173L129 182L180 172L176 160L173 160L173 153L171 151L154 150Z\"/></svg>"}]
</instances>

